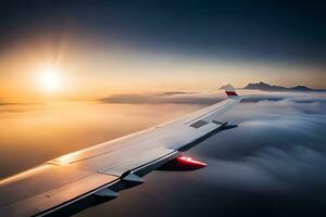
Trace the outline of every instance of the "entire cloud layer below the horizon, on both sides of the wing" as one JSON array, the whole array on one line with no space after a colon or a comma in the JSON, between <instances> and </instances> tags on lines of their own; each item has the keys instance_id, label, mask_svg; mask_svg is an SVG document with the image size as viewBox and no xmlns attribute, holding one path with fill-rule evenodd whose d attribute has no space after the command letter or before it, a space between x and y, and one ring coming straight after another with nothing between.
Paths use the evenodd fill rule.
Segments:
<instances>
[{"instance_id":1,"label":"entire cloud layer below the horizon, on both sides of the wing","mask_svg":"<svg viewBox=\"0 0 326 217\"><path fill-rule=\"evenodd\" d=\"M181 91L111 95L87 105L88 108L77 104L70 113L66 108L35 112L34 106L24 106L24 111L30 107L35 117L27 118L29 113L2 114L0 136L8 141L2 140L1 148L15 148L2 158L13 163L12 158L18 157L22 161L14 163L24 166L27 161L23 158L30 154L30 158L43 162L63 148L73 149L78 143L86 146L95 143L90 142L93 138L98 141L106 140L108 135L129 133L158 124L161 119L155 118L163 118L164 114L179 110L181 115L221 99ZM145 177L146 183L77 216L326 216L325 99L322 93L274 92L248 98L218 119L236 123L238 128L222 131L186 153L206 162L208 167L188 173L153 171ZM173 119L174 115L167 116ZM16 117L16 125L12 116ZM14 126L25 130L9 137ZM35 128L35 136L41 137L38 145L24 126ZM13 143L16 135L22 139ZM47 146L42 143L46 139L62 146L46 142ZM26 152L22 152L22 143L26 144ZM74 146L77 148L82 149ZM10 153L5 149L2 153ZM4 168L10 164L2 159L2 165Z\"/></svg>"}]
</instances>

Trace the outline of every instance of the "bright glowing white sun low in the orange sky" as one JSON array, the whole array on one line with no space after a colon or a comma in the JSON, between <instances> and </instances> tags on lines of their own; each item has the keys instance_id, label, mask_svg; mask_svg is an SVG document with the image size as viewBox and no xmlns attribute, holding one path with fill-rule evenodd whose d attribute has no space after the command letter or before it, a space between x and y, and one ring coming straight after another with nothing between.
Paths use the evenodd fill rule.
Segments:
<instances>
[{"instance_id":1,"label":"bright glowing white sun low in the orange sky","mask_svg":"<svg viewBox=\"0 0 326 217\"><path fill-rule=\"evenodd\" d=\"M41 68L38 77L38 85L42 91L58 92L62 88L62 78L55 67Z\"/></svg>"}]
</instances>

